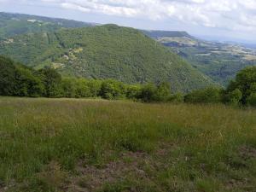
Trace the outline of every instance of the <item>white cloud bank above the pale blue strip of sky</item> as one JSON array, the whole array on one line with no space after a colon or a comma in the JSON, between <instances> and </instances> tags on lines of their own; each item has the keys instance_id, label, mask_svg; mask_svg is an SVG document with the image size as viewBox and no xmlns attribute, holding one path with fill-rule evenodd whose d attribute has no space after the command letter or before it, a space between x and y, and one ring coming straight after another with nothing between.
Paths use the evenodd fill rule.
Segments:
<instances>
[{"instance_id":1,"label":"white cloud bank above the pale blue strip of sky","mask_svg":"<svg viewBox=\"0 0 256 192\"><path fill-rule=\"evenodd\" d=\"M0 0L12 2L14 0ZM91 14L256 32L256 0L21 0Z\"/></svg>"}]
</instances>

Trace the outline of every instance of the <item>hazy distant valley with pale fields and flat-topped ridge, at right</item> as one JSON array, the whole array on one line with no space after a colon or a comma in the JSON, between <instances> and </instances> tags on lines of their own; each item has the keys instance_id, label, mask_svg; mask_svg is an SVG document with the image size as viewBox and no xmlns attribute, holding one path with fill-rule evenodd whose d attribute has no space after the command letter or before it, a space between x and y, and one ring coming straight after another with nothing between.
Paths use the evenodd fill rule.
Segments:
<instances>
[{"instance_id":1,"label":"hazy distant valley with pale fields and flat-topped ridge, at right","mask_svg":"<svg viewBox=\"0 0 256 192\"><path fill-rule=\"evenodd\" d=\"M150 38L171 47L195 68L219 84L226 85L241 68L256 65L256 50L239 44L204 41L186 32L143 31Z\"/></svg>"}]
</instances>

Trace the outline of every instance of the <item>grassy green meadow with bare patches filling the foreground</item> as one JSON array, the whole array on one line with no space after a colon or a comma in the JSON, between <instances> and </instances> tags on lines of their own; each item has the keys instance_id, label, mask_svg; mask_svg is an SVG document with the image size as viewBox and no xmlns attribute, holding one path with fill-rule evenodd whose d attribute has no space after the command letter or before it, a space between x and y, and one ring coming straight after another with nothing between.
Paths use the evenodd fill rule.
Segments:
<instances>
[{"instance_id":1,"label":"grassy green meadow with bare patches filling the foreground","mask_svg":"<svg viewBox=\"0 0 256 192\"><path fill-rule=\"evenodd\" d=\"M256 111L0 98L0 191L255 191Z\"/></svg>"}]
</instances>

